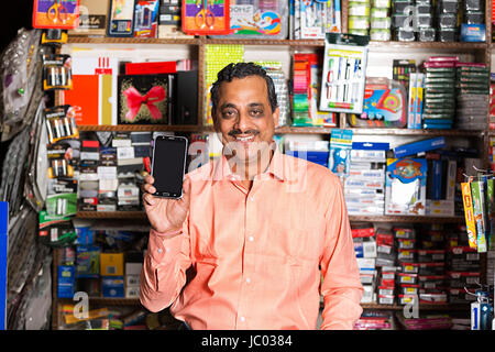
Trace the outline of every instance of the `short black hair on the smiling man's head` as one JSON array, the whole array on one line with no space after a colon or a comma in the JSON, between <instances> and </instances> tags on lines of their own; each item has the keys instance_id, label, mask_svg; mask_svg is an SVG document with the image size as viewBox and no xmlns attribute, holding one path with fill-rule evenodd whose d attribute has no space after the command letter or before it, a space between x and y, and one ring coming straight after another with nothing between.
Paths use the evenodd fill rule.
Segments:
<instances>
[{"instance_id":1,"label":"short black hair on the smiling man's head","mask_svg":"<svg viewBox=\"0 0 495 352\"><path fill-rule=\"evenodd\" d=\"M254 63L231 63L218 73L217 81L211 85L211 114L213 119L220 99L220 85L223 81L232 81L234 78L245 78L249 76L260 76L266 81L270 106L272 111L275 111L278 107L277 95L275 94L275 85L273 84L272 77L266 74L266 70Z\"/></svg>"}]
</instances>

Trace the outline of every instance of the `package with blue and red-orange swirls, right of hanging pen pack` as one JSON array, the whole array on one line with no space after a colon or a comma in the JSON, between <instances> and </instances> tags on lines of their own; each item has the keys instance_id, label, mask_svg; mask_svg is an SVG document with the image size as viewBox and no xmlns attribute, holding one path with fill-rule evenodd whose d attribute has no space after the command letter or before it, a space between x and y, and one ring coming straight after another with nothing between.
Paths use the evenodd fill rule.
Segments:
<instances>
[{"instance_id":1,"label":"package with blue and red-orange swirls, right of hanging pen pack","mask_svg":"<svg viewBox=\"0 0 495 352\"><path fill-rule=\"evenodd\" d=\"M348 114L348 122L354 128L404 128L406 107L407 95L403 85L387 78L367 78L363 113Z\"/></svg>"}]
</instances>

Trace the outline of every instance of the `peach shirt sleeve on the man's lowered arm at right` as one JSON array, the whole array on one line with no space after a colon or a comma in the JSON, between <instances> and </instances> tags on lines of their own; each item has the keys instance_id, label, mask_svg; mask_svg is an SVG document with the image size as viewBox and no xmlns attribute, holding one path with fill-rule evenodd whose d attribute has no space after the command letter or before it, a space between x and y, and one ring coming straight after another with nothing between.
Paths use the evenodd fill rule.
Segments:
<instances>
[{"instance_id":1,"label":"peach shirt sleeve on the man's lowered arm at right","mask_svg":"<svg viewBox=\"0 0 495 352\"><path fill-rule=\"evenodd\" d=\"M351 226L339 179L333 176L331 199L326 212L324 252L320 267L324 299L322 330L351 330L361 317L363 286L360 279Z\"/></svg>"}]
</instances>

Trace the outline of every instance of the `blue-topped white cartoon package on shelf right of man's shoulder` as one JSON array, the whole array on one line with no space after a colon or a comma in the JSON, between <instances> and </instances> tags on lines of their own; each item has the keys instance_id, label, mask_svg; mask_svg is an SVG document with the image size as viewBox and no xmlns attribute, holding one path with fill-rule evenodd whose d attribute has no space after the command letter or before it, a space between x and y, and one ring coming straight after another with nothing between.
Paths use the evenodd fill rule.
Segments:
<instances>
[{"instance_id":1,"label":"blue-topped white cartoon package on shelf right of man's shoulder","mask_svg":"<svg viewBox=\"0 0 495 352\"><path fill-rule=\"evenodd\" d=\"M385 215L425 215L427 169L422 158L387 158Z\"/></svg>"}]
</instances>

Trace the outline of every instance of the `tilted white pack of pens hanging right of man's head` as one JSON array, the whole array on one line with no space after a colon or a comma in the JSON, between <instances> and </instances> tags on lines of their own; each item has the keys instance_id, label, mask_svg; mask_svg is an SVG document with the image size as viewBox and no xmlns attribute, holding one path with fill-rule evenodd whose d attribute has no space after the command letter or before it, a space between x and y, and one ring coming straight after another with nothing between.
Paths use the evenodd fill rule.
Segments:
<instances>
[{"instance_id":1,"label":"tilted white pack of pens hanging right of man's head","mask_svg":"<svg viewBox=\"0 0 495 352\"><path fill-rule=\"evenodd\" d=\"M327 33L320 110L363 113L367 35Z\"/></svg>"}]
</instances>

